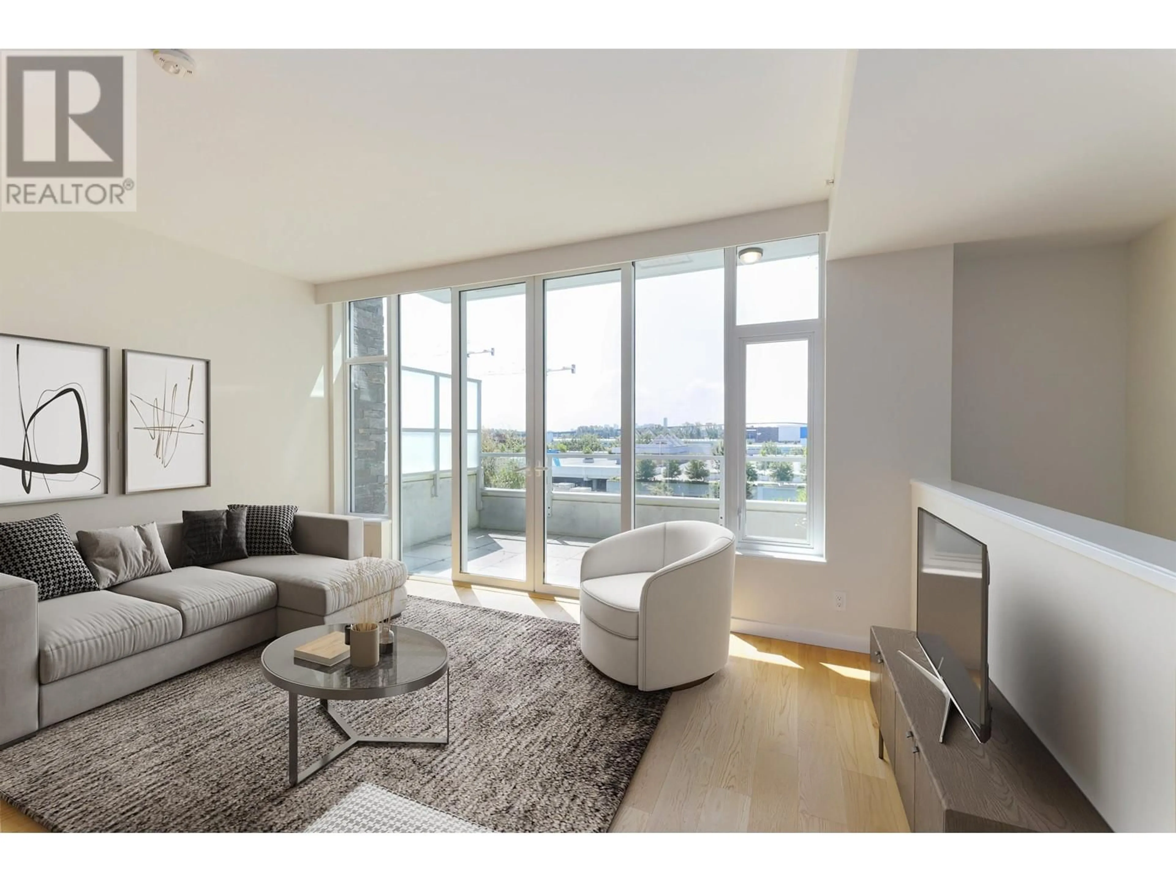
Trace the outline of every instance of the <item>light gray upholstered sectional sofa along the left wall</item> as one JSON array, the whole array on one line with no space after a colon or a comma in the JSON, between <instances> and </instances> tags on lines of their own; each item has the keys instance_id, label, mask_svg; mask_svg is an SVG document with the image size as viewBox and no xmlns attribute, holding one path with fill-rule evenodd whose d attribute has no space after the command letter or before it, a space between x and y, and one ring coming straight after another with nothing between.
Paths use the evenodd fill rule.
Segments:
<instances>
[{"instance_id":1,"label":"light gray upholstered sectional sofa along the left wall","mask_svg":"<svg viewBox=\"0 0 1176 882\"><path fill-rule=\"evenodd\" d=\"M0 746L292 630L350 622L363 600L340 588L363 554L359 517L299 513L299 554L212 567L179 566L181 527L159 524L171 573L107 590L38 602L33 582L0 574ZM405 568L383 563L399 614Z\"/></svg>"}]
</instances>

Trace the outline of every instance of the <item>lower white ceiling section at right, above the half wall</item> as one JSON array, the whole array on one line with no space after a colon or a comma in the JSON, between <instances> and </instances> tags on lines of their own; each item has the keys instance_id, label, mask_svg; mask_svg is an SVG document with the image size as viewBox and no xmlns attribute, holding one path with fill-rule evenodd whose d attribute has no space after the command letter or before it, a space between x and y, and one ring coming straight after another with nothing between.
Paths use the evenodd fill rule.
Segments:
<instances>
[{"instance_id":1,"label":"lower white ceiling section at right, above the half wall","mask_svg":"<svg viewBox=\"0 0 1176 882\"><path fill-rule=\"evenodd\" d=\"M828 255L1176 214L1176 52L861 51Z\"/></svg>"}]
</instances>

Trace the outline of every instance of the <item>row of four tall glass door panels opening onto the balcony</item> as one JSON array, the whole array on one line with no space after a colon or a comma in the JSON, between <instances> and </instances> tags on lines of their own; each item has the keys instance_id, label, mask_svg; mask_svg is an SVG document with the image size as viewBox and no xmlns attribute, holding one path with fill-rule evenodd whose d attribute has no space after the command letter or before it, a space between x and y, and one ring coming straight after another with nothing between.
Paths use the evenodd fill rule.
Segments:
<instances>
[{"instance_id":1,"label":"row of four tall glass door panels opening onto the balcony","mask_svg":"<svg viewBox=\"0 0 1176 882\"><path fill-rule=\"evenodd\" d=\"M401 295L409 572L574 594L602 539L722 523L723 266L700 252Z\"/></svg>"}]
</instances>

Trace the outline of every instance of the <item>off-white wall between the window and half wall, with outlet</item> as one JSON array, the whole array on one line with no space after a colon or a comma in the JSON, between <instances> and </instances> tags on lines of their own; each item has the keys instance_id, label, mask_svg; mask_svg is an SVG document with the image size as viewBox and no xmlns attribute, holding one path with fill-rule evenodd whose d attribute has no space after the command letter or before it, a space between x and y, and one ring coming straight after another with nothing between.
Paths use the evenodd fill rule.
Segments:
<instances>
[{"instance_id":1,"label":"off-white wall between the window and half wall, with outlet","mask_svg":"<svg viewBox=\"0 0 1176 882\"><path fill-rule=\"evenodd\" d=\"M740 556L737 628L866 652L910 627L910 480L951 470L951 285L950 246L829 261L827 560Z\"/></svg>"}]
</instances>

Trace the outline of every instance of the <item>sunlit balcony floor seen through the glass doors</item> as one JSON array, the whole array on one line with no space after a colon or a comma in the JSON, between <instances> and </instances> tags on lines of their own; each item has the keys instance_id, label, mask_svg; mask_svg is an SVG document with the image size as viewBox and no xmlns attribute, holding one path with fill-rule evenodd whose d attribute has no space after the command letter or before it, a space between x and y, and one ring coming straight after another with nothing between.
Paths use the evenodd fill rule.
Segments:
<instances>
[{"instance_id":1,"label":"sunlit balcony floor seen through the glass doors","mask_svg":"<svg viewBox=\"0 0 1176 882\"><path fill-rule=\"evenodd\" d=\"M547 537L544 581L577 588L580 559L597 540L582 536ZM473 575L522 581L527 577L527 540L522 533L477 528L469 532L467 561ZM453 546L442 539L410 546L405 566L413 575L453 577Z\"/></svg>"}]
</instances>

